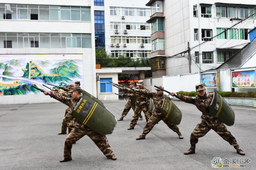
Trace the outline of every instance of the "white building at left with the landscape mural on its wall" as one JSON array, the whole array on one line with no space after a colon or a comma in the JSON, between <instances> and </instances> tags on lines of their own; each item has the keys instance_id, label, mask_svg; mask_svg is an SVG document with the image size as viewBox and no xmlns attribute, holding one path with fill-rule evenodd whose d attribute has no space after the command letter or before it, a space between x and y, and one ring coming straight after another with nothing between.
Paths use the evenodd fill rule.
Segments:
<instances>
[{"instance_id":1,"label":"white building at left with the landscape mural on its wall","mask_svg":"<svg viewBox=\"0 0 256 170\"><path fill-rule=\"evenodd\" d=\"M64 77L96 96L93 11L93 0L0 0L0 104L52 101L19 83L51 84ZM10 95L13 89L24 95Z\"/></svg>"}]
</instances>

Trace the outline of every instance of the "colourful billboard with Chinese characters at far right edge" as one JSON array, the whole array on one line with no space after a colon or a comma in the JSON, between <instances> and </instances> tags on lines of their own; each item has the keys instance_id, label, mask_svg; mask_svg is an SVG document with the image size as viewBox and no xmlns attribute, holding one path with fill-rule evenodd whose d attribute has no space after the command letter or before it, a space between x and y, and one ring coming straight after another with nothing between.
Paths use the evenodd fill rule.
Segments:
<instances>
[{"instance_id":1,"label":"colourful billboard with Chinese characters at far right edge","mask_svg":"<svg viewBox=\"0 0 256 170\"><path fill-rule=\"evenodd\" d=\"M255 87L255 70L232 71L232 87Z\"/></svg>"}]
</instances>

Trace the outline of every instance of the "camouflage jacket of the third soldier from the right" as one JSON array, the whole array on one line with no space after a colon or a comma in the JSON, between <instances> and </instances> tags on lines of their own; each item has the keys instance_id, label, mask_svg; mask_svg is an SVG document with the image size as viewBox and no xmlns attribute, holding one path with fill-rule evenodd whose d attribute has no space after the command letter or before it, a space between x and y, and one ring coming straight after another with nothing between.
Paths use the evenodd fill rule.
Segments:
<instances>
[{"instance_id":1,"label":"camouflage jacket of the third soldier from the right","mask_svg":"<svg viewBox=\"0 0 256 170\"><path fill-rule=\"evenodd\" d=\"M136 105L137 106L144 106L144 105L148 105L150 98L147 97L146 94L143 93L137 93L134 90L131 90L130 88L125 88L129 93L131 94L125 94L128 97L136 97ZM135 87L134 89L140 89L138 86ZM148 91L147 88L143 88L141 90L145 90Z\"/></svg>"}]
</instances>

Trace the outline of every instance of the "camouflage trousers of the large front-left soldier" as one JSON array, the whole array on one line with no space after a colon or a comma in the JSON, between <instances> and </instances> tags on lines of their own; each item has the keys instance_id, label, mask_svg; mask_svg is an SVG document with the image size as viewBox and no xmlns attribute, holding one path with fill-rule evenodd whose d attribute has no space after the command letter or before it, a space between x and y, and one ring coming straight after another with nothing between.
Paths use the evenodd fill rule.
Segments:
<instances>
[{"instance_id":1,"label":"camouflage trousers of the large front-left soldier","mask_svg":"<svg viewBox=\"0 0 256 170\"><path fill-rule=\"evenodd\" d=\"M64 158L71 158L72 143L78 141L85 135L92 139L92 141L97 145L97 147L99 147L99 149L107 158L110 158L114 155L113 150L109 146L108 139L105 135L97 133L90 127L85 127L83 129L74 127L65 140Z\"/></svg>"}]
</instances>

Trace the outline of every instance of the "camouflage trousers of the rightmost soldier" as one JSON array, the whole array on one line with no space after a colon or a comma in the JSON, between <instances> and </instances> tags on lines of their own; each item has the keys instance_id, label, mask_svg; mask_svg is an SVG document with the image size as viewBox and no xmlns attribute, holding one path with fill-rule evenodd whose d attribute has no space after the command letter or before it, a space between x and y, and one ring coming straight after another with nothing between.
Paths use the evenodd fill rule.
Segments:
<instances>
[{"instance_id":1,"label":"camouflage trousers of the rightmost soldier","mask_svg":"<svg viewBox=\"0 0 256 170\"><path fill-rule=\"evenodd\" d=\"M227 130L227 127L224 125L224 123L220 122L218 125L209 125L209 123L205 123L204 121L198 123L198 125L196 125L195 129L191 133L190 148L195 150L195 144L198 143L198 138L206 135L211 129L218 133L218 135L221 136L225 141L229 142L230 145L232 145L235 149L239 148L236 139L231 135L230 131Z\"/></svg>"}]
</instances>

